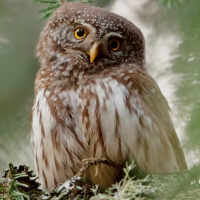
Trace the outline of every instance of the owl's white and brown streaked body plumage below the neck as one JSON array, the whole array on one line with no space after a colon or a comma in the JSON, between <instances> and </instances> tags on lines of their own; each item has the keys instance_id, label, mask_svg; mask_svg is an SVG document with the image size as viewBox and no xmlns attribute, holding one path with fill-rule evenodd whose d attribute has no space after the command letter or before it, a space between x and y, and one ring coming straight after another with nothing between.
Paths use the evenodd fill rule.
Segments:
<instances>
[{"instance_id":1,"label":"owl's white and brown streaked body plumage below the neck","mask_svg":"<svg viewBox=\"0 0 200 200\"><path fill-rule=\"evenodd\" d=\"M133 158L150 173L178 169L173 142L179 141L168 105L148 74L127 67L77 83L76 87L67 87L66 82L50 84L36 91L32 145L40 149L35 150L38 173L52 165L49 173L61 170L64 177L71 177L81 160L90 157L111 158L119 164ZM55 156L48 161L51 154ZM62 182L62 173L60 176L58 182ZM94 173L89 177L102 185L115 180L104 183L104 176L95 177Z\"/></svg>"}]
</instances>

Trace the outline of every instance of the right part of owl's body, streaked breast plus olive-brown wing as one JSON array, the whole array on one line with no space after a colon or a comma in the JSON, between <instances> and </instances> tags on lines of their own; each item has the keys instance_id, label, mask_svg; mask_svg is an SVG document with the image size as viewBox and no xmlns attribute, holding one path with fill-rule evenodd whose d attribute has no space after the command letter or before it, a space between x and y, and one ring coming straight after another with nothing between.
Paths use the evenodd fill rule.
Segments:
<instances>
[{"instance_id":1,"label":"right part of owl's body, streaked breast plus olive-brown wing","mask_svg":"<svg viewBox=\"0 0 200 200\"><path fill-rule=\"evenodd\" d=\"M187 169L184 153L156 82L134 66L110 69L78 91L82 132L91 157L134 159L145 172Z\"/></svg>"}]
</instances>

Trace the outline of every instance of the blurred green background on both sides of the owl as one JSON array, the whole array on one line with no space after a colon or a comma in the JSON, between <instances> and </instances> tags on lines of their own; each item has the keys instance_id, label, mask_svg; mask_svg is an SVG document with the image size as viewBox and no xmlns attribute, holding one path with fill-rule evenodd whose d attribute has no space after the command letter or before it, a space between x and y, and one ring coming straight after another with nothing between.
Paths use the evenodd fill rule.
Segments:
<instances>
[{"instance_id":1,"label":"blurred green background on both sides of the owl","mask_svg":"<svg viewBox=\"0 0 200 200\"><path fill-rule=\"evenodd\" d=\"M148 9L145 6L154 0L142 1L142 16L145 16L145 9ZM109 1L97 0L96 3L105 6ZM40 20L38 11L43 6L33 0L0 1L0 171L7 168L9 162L33 167L30 112L34 78L39 68L34 50L45 23ZM184 150L188 157L193 156L190 162L197 163L200 149L200 1L185 1L170 10L160 7L160 12L162 17L150 14L148 17L161 24L160 30L163 26L176 30L182 41L171 71L181 77L175 87L177 117L186 123Z\"/></svg>"}]
</instances>

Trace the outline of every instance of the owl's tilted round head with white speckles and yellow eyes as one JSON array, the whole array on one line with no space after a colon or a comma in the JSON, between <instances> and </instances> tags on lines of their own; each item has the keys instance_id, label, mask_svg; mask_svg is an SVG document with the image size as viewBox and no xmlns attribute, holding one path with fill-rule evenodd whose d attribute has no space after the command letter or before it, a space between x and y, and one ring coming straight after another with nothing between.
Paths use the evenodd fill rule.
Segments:
<instances>
[{"instance_id":1,"label":"owl's tilted round head with white speckles and yellow eyes","mask_svg":"<svg viewBox=\"0 0 200 200\"><path fill-rule=\"evenodd\" d=\"M74 55L87 67L134 63L143 68L144 38L127 19L83 3L65 3L50 17L37 47L40 61ZM64 57L60 58L64 59Z\"/></svg>"}]
</instances>

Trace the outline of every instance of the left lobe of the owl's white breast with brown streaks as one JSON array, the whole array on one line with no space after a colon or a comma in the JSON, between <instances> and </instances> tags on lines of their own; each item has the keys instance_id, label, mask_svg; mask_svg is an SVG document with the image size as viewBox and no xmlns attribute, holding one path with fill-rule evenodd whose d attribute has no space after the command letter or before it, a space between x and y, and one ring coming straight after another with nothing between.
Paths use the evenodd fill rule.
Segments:
<instances>
[{"instance_id":1,"label":"left lobe of the owl's white breast with brown streaks","mask_svg":"<svg viewBox=\"0 0 200 200\"><path fill-rule=\"evenodd\" d=\"M50 190L78 172L86 145L73 91L38 91L32 109L31 140L43 188Z\"/></svg>"}]
</instances>

